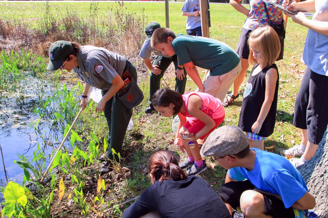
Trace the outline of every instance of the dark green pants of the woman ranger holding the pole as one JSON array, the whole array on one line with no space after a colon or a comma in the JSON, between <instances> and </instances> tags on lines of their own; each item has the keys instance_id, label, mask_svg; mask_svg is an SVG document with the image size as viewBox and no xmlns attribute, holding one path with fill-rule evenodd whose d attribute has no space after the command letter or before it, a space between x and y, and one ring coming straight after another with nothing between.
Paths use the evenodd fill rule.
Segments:
<instances>
[{"instance_id":1,"label":"dark green pants of the woman ranger holding the pole","mask_svg":"<svg viewBox=\"0 0 328 218\"><path fill-rule=\"evenodd\" d=\"M130 61L127 62L126 70L131 74L134 81L137 82L137 71ZM104 96L107 91L108 90L102 90L102 96ZM121 100L116 98L116 94L105 104L104 114L108 125L109 144L107 158L110 160L119 162L118 155L112 154L112 148L116 153L122 151L126 129L128 128L129 121L132 117L132 110L133 108L127 108Z\"/></svg>"}]
</instances>

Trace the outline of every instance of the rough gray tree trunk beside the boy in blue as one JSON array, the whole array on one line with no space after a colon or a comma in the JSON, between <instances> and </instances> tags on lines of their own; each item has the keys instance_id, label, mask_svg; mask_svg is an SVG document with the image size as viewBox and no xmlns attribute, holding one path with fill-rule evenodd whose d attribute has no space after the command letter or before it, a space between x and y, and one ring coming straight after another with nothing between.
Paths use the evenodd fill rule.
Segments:
<instances>
[{"instance_id":1,"label":"rough gray tree trunk beside the boy in blue","mask_svg":"<svg viewBox=\"0 0 328 218\"><path fill-rule=\"evenodd\" d=\"M307 183L309 192L316 198L313 209L318 217L328 217L328 137L325 132L317 153L305 164L297 167Z\"/></svg>"}]
</instances>

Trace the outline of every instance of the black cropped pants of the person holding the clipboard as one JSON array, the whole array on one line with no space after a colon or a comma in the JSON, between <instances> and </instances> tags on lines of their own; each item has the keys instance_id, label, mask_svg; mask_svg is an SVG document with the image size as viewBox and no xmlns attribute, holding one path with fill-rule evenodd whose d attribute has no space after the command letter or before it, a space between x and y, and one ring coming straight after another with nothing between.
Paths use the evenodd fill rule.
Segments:
<instances>
[{"instance_id":1,"label":"black cropped pants of the person holding the clipboard","mask_svg":"<svg viewBox=\"0 0 328 218\"><path fill-rule=\"evenodd\" d=\"M308 130L308 141L318 145L328 124L328 76L306 68L295 100L293 125ZM309 100L311 99L311 100Z\"/></svg>"}]
</instances>

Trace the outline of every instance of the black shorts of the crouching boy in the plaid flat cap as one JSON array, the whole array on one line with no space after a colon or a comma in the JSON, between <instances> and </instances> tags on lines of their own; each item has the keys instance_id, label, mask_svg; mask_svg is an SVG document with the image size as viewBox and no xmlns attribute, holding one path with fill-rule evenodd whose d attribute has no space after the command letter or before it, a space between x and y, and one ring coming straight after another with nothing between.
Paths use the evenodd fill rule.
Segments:
<instances>
[{"instance_id":1,"label":"black shorts of the crouching boy in the plaid flat cap","mask_svg":"<svg viewBox=\"0 0 328 218\"><path fill-rule=\"evenodd\" d=\"M253 190L256 187L248 180L228 182L224 184L220 191L220 197L230 206L236 209L240 206L240 196L244 191ZM274 195L261 193L264 197L265 215L270 215L274 218L295 218L292 208L285 208L284 203Z\"/></svg>"}]
</instances>

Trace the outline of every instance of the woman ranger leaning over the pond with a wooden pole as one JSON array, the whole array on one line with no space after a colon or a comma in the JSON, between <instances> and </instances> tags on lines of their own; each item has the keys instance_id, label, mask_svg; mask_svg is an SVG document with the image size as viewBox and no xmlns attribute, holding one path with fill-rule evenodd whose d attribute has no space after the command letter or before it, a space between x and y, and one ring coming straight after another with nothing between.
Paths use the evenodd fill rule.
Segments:
<instances>
[{"instance_id":1,"label":"woman ranger leaning over the pond with a wooden pole","mask_svg":"<svg viewBox=\"0 0 328 218\"><path fill-rule=\"evenodd\" d=\"M102 98L95 111L103 111L108 124L107 162L100 169L101 173L113 170L112 161L119 161L117 154L121 152L123 139L132 116L132 108L128 108L120 99L115 98L124 85L123 72L131 75L137 81L134 65L124 56L105 48L92 45L80 46L74 42L56 41L49 49L50 63L47 70L73 70L84 84L80 107L87 106L88 92L91 86L101 89Z\"/></svg>"}]
</instances>

